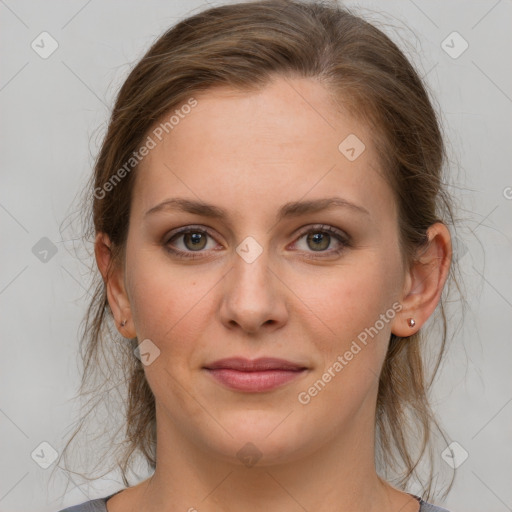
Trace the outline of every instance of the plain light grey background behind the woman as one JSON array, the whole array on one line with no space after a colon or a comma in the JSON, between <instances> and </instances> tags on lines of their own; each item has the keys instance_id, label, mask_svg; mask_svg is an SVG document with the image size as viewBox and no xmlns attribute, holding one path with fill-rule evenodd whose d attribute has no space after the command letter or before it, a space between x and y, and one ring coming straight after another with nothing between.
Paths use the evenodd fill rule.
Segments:
<instances>
[{"instance_id":1,"label":"plain light grey background behind the woman","mask_svg":"<svg viewBox=\"0 0 512 512\"><path fill-rule=\"evenodd\" d=\"M204 5L0 0L0 511L56 511L121 487L112 476L71 485L62 496L62 489L48 488L51 467L31 458L42 442L59 451L76 419L70 399L79 383L77 329L88 279L60 228L130 66L166 28ZM470 310L450 342L434 408L468 458L443 506L512 510L512 2L349 5L394 25L390 35L438 99L450 145ZM43 31L58 42L46 59L31 47ZM469 44L457 58L442 47L454 31ZM452 53L463 44L455 37L444 43ZM41 247L56 253L41 261Z\"/></svg>"}]
</instances>

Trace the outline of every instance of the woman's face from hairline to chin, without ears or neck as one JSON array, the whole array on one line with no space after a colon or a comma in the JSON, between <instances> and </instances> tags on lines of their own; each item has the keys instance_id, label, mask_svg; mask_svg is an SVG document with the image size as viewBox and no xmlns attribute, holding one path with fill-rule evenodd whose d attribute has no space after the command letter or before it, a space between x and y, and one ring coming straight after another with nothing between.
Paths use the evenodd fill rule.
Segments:
<instances>
[{"instance_id":1,"label":"woman's face from hairline to chin, without ears or neck","mask_svg":"<svg viewBox=\"0 0 512 512\"><path fill-rule=\"evenodd\" d=\"M235 462L247 442L271 464L370 436L404 283L371 133L311 80L194 97L137 169L123 275L138 340L159 351L144 366L158 422ZM155 209L178 198L224 216ZM241 388L206 369L232 357L303 370Z\"/></svg>"}]
</instances>

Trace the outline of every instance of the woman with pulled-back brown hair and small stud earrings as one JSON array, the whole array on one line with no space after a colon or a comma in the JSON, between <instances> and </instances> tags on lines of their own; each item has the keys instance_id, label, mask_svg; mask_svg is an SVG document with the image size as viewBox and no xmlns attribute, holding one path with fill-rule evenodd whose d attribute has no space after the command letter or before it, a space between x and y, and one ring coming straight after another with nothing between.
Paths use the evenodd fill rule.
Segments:
<instances>
[{"instance_id":1,"label":"woman with pulled-back brown hair and small stud earrings","mask_svg":"<svg viewBox=\"0 0 512 512\"><path fill-rule=\"evenodd\" d=\"M222 6L160 37L96 162L84 337L84 384L109 319L126 338L123 478L134 451L153 474L66 510L445 510L432 473L406 491L435 425L421 330L453 271L443 162L411 64L334 4Z\"/></svg>"}]
</instances>

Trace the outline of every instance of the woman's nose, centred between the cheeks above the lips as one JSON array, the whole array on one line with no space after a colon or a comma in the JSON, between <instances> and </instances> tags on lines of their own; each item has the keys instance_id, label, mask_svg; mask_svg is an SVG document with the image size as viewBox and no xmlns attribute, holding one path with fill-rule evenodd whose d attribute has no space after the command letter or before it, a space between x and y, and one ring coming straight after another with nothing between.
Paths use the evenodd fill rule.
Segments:
<instances>
[{"instance_id":1,"label":"woman's nose, centred between the cheeks above the lips","mask_svg":"<svg viewBox=\"0 0 512 512\"><path fill-rule=\"evenodd\" d=\"M283 284L269 268L268 251L248 262L238 254L225 277L220 317L228 329L250 334L273 331L288 318Z\"/></svg>"}]
</instances>

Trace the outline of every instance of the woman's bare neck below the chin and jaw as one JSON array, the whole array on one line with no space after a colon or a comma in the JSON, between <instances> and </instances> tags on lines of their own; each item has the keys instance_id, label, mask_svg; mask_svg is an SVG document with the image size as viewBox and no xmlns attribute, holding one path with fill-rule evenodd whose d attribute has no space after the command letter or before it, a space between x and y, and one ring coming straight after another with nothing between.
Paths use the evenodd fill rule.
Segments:
<instances>
[{"instance_id":1,"label":"woman's bare neck below the chin and jaw","mask_svg":"<svg viewBox=\"0 0 512 512\"><path fill-rule=\"evenodd\" d=\"M279 462L245 466L208 452L180 435L157 405L157 468L141 485L144 507L159 512L381 512L401 503L417 511L414 499L383 482L374 465L373 420L359 418L340 436ZM243 444L240 444L243 446ZM275 447L274 447L275 448ZM271 450L271 445L267 446ZM234 450L235 452L237 450ZM407 504L409 503L409 506Z\"/></svg>"}]
</instances>

